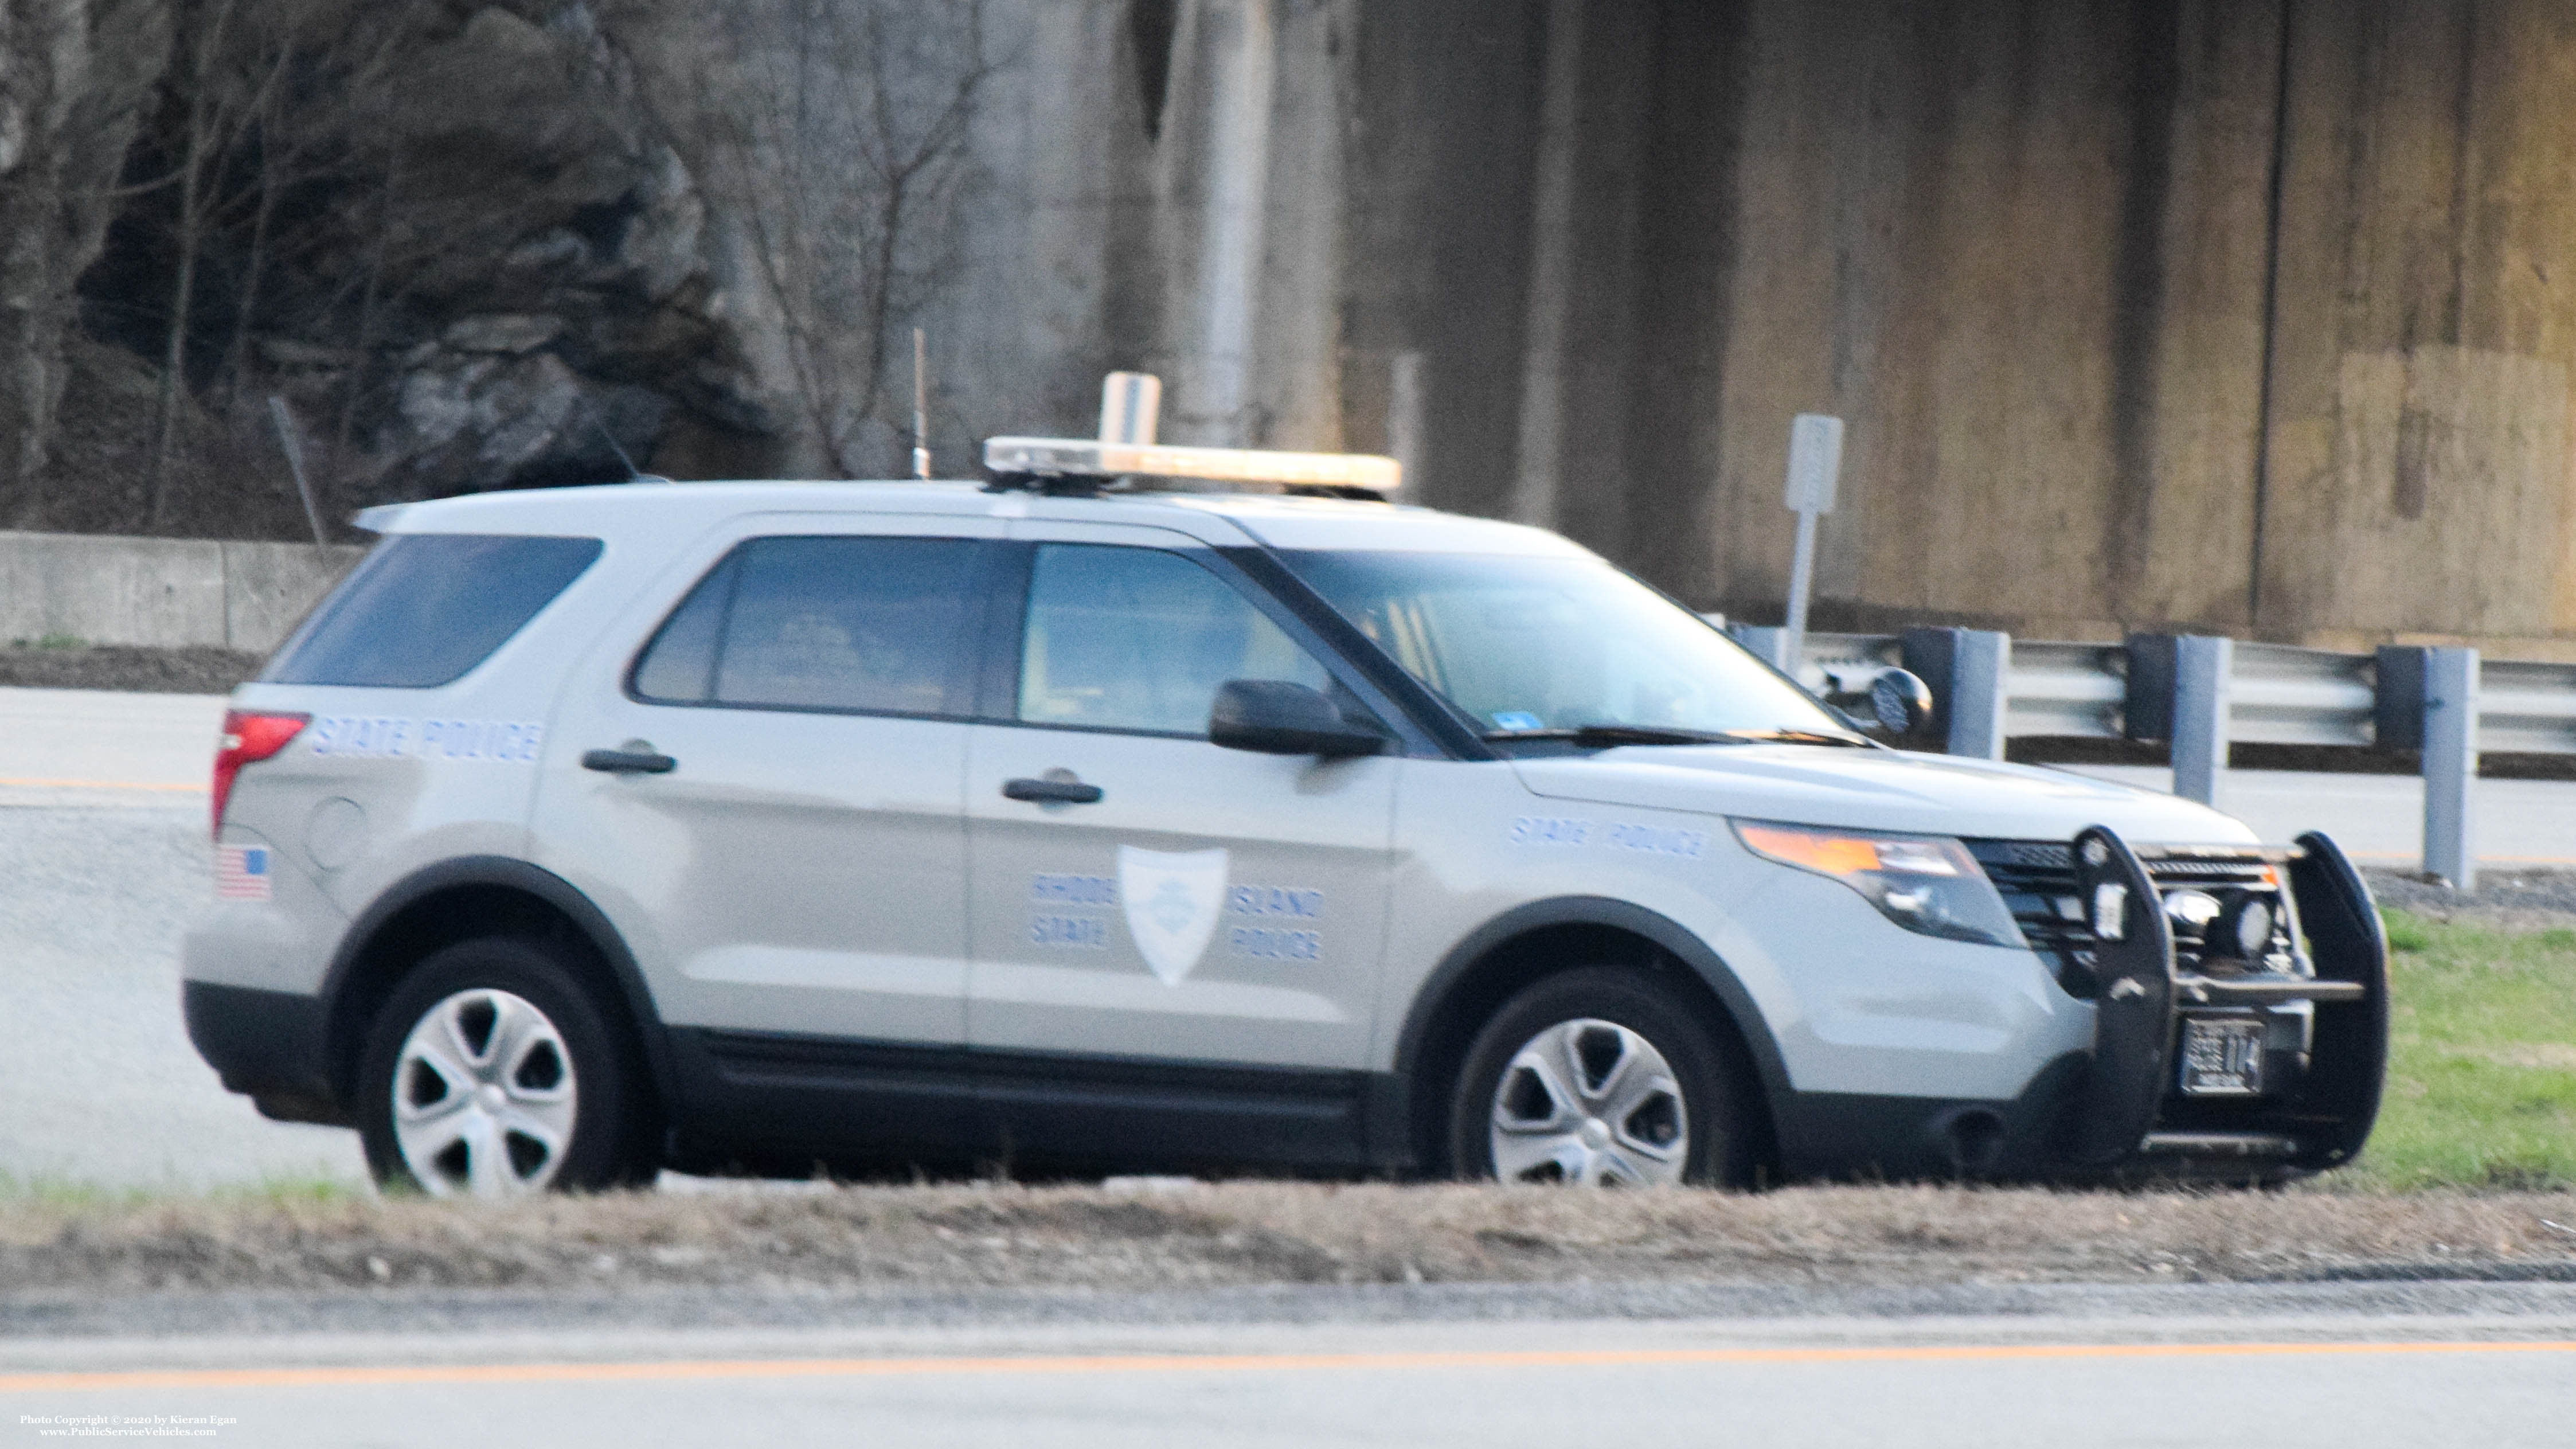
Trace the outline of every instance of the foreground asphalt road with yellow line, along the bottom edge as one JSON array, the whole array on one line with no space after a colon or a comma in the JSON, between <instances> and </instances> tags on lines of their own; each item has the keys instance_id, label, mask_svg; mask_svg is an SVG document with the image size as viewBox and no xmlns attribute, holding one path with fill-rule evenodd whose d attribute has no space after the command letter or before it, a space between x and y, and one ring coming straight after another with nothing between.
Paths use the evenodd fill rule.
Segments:
<instances>
[{"instance_id":1,"label":"foreground asphalt road with yellow line, along the bottom edge","mask_svg":"<svg viewBox=\"0 0 2576 1449\"><path fill-rule=\"evenodd\" d=\"M149 1415L165 1423L139 1423ZM2576 1318L1703 1318L0 1346L0 1426L36 1439L82 1421L211 1428L219 1444L422 1449L2512 1449L2568 1441Z\"/></svg>"}]
</instances>

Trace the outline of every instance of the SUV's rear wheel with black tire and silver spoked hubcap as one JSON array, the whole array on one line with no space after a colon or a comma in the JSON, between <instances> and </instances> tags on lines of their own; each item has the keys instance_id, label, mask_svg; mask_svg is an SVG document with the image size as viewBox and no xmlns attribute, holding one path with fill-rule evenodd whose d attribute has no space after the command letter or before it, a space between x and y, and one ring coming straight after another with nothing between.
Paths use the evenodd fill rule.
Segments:
<instances>
[{"instance_id":1,"label":"SUV's rear wheel with black tire and silver spoked hubcap","mask_svg":"<svg viewBox=\"0 0 2576 1449\"><path fill-rule=\"evenodd\" d=\"M611 1021L536 941L433 951L358 1057L368 1171L397 1191L484 1199L652 1181L652 1091Z\"/></svg>"}]
</instances>

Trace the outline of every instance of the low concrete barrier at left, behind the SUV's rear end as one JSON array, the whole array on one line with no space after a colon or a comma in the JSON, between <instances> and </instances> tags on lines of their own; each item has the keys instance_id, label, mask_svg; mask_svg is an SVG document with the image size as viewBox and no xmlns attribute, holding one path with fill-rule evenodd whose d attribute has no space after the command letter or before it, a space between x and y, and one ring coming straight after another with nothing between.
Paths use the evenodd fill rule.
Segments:
<instances>
[{"instance_id":1,"label":"low concrete barrier at left, behind the SUV's rear end","mask_svg":"<svg viewBox=\"0 0 2576 1449\"><path fill-rule=\"evenodd\" d=\"M366 549L0 531L0 639L265 655Z\"/></svg>"}]
</instances>

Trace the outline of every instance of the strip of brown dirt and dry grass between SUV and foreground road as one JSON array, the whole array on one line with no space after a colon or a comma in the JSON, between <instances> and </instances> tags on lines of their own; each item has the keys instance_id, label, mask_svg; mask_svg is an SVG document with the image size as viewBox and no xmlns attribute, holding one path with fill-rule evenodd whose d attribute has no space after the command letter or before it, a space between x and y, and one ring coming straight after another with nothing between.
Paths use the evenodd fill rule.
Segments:
<instances>
[{"instance_id":1,"label":"strip of brown dirt and dry grass between SUV and foreground road","mask_svg":"<svg viewBox=\"0 0 2576 1449\"><path fill-rule=\"evenodd\" d=\"M2576 1194L1216 1183L0 1204L0 1299L206 1289L2576 1281Z\"/></svg>"}]
</instances>

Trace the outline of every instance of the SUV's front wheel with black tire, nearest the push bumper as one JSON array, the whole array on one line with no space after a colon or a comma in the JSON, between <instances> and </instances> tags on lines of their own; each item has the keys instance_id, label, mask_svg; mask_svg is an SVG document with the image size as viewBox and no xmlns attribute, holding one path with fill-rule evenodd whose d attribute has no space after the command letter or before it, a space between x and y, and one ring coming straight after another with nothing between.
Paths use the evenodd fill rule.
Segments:
<instances>
[{"instance_id":1,"label":"SUV's front wheel with black tire, nearest the push bumper","mask_svg":"<svg viewBox=\"0 0 2576 1449\"><path fill-rule=\"evenodd\" d=\"M1736 1062L1654 977L1584 967L1522 990L1466 1049L1450 1096L1463 1178L1752 1186Z\"/></svg>"}]
</instances>

